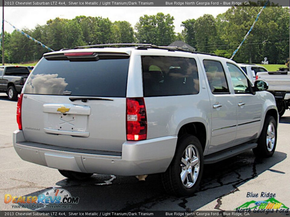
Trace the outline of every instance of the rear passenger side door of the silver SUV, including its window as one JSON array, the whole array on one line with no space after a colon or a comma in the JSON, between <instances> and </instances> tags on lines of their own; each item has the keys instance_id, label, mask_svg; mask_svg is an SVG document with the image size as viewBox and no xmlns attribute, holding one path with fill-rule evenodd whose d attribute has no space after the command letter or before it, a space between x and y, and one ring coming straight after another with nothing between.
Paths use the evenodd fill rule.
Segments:
<instances>
[{"instance_id":1,"label":"rear passenger side door of the silver SUV, including its window","mask_svg":"<svg viewBox=\"0 0 290 217\"><path fill-rule=\"evenodd\" d=\"M211 101L212 136L208 154L234 146L237 131L235 95L230 93L223 65L218 60L204 59Z\"/></svg>"}]
</instances>

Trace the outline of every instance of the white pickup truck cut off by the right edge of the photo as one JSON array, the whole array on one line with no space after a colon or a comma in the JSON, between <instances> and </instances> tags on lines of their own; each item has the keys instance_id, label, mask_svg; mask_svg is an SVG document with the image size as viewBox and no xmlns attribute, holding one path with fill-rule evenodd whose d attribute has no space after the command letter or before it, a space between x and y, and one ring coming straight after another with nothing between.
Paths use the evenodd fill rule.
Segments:
<instances>
[{"instance_id":1,"label":"white pickup truck cut off by the right edge of the photo","mask_svg":"<svg viewBox=\"0 0 290 217\"><path fill-rule=\"evenodd\" d=\"M256 76L257 80L268 83L268 91L275 96L279 116L281 117L290 106L290 72L257 72Z\"/></svg>"}]
</instances>

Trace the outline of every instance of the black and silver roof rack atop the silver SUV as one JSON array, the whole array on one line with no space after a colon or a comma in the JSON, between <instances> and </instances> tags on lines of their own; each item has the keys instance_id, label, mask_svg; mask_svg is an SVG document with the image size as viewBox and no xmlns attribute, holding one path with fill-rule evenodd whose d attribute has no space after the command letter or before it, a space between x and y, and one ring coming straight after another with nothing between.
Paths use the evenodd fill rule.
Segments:
<instances>
[{"instance_id":1,"label":"black and silver roof rack atop the silver SUV","mask_svg":"<svg viewBox=\"0 0 290 217\"><path fill-rule=\"evenodd\" d=\"M213 54L213 53L190 51L190 50L185 50L181 47L157 46L154 44L139 44L139 43L136 43L136 44L135 43L97 44L97 45L78 46L73 49L92 48L92 47L111 47L111 46L131 46L131 47L136 47L136 49L140 49L140 50L153 48L153 49L163 49L163 50L168 50L168 51L182 51L182 52L189 52L189 53L194 53L194 54L205 54L205 55L217 56L216 54Z\"/></svg>"}]
</instances>

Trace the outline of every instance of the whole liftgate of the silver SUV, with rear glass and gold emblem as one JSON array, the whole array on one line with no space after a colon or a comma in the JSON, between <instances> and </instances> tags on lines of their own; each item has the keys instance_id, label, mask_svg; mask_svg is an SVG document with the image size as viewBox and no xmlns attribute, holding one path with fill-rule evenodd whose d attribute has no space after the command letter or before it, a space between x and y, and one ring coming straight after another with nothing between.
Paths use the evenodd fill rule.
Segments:
<instances>
[{"instance_id":1,"label":"whole liftgate of the silver SUV, with rear glass and gold emblem","mask_svg":"<svg viewBox=\"0 0 290 217\"><path fill-rule=\"evenodd\" d=\"M26 140L121 152L130 58L126 53L92 55L72 60L47 56L34 68L22 103Z\"/></svg>"}]
</instances>

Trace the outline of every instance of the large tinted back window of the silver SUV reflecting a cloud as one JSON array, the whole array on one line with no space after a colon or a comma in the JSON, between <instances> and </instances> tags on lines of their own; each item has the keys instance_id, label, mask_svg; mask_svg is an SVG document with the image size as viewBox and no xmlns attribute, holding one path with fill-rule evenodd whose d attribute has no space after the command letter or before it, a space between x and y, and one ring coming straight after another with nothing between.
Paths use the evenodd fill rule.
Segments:
<instances>
[{"instance_id":1,"label":"large tinted back window of the silver SUV reflecting a cloud","mask_svg":"<svg viewBox=\"0 0 290 217\"><path fill-rule=\"evenodd\" d=\"M98 61L43 58L26 81L24 93L126 97L129 58Z\"/></svg>"}]
</instances>

